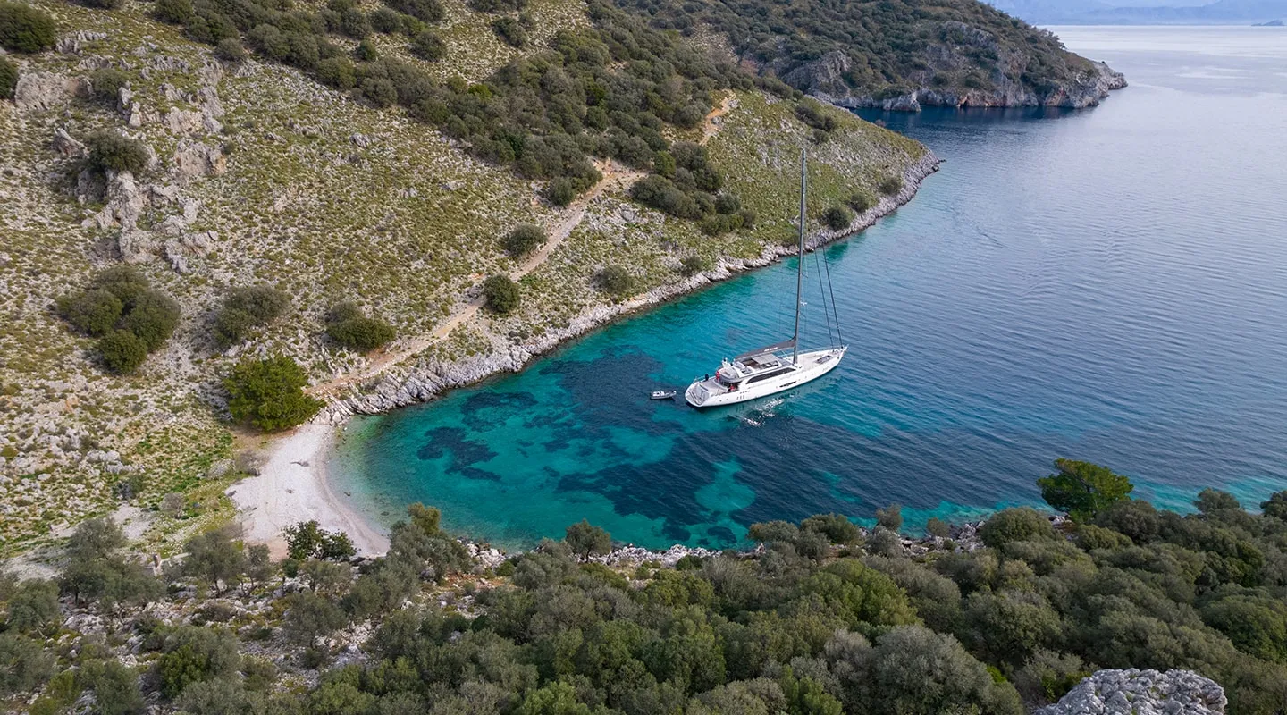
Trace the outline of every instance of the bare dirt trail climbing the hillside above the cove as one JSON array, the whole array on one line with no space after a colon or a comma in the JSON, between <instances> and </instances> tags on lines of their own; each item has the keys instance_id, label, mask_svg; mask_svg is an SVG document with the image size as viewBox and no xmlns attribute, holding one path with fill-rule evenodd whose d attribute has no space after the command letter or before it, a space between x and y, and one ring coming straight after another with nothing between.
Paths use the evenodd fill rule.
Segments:
<instances>
[{"instance_id":1,"label":"bare dirt trail climbing the hillside above the cove","mask_svg":"<svg viewBox=\"0 0 1287 715\"><path fill-rule=\"evenodd\" d=\"M719 100L719 105L712 109L703 122L700 139L701 144L705 144L712 136L719 134L719 130L723 127L721 117L727 114L736 105L736 95L732 93L725 94L723 99ZM604 192L610 188L620 190L629 189L636 181L647 176L646 171L637 171L622 166L611 159L596 162L595 166L604 175L604 177L600 179L598 183L595 184L588 192L578 197L577 201L571 202L566 208L559 212L553 225L548 228L550 238L541 246L541 248L529 256L528 260L510 271L511 279L519 280L541 267L542 264L544 264L546 260L550 258L550 256L560 246L562 246L564 240L571 235L571 231L580 225L582 219L586 217L586 208L589 207L591 202L601 197ZM435 342L449 336L452 330L472 319L474 315L477 314L479 309L483 307L484 302L485 298L483 296L475 297L470 302L452 311L452 314L447 316L447 320L439 323L429 334L395 341L390 347L377 352L367 365L327 382L314 385L308 388L308 392L318 397L333 397L337 392L354 383L380 377L393 365L398 365L414 358L416 355L420 355Z\"/></svg>"}]
</instances>

